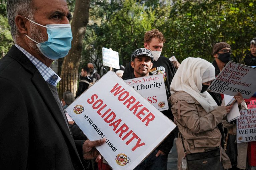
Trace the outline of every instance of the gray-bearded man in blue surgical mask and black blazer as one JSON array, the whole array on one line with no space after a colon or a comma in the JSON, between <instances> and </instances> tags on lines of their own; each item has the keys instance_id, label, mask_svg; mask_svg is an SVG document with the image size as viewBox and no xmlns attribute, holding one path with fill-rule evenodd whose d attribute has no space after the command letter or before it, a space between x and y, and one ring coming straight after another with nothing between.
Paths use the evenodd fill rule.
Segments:
<instances>
[{"instance_id":1,"label":"gray-bearded man in blue surgical mask and black blazer","mask_svg":"<svg viewBox=\"0 0 256 170\"><path fill-rule=\"evenodd\" d=\"M97 141L74 141L49 66L72 41L66 0L8 0L15 45L0 60L0 169L84 169Z\"/></svg>"}]
</instances>

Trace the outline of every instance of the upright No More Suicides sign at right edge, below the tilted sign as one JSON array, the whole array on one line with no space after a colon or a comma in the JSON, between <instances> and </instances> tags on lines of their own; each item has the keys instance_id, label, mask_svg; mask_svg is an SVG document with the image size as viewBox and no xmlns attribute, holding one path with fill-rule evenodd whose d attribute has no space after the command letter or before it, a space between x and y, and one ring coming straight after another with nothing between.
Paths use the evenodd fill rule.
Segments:
<instances>
[{"instance_id":1,"label":"upright No More Suicides sign at right edge, below the tilted sign","mask_svg":"<svg viewBox=\"0 0 256 170\"><path fill-rule=\"evenodd\" d=\"M256 141L256 108L240 110L241 117L236 120L236 141Z\"/></svg>"}]
</instances>

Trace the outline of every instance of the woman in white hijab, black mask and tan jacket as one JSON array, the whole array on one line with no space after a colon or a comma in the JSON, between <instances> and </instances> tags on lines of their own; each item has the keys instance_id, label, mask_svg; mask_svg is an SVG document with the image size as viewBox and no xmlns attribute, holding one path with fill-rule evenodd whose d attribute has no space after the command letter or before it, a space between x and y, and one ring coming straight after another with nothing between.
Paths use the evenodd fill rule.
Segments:
<instances>
[{"instance_id":1,"label":"woman in white hijab, black mask and tan jacket","mask_svg":"<svg viewBox=\"0 0 256 170\"><path fill-rule=\"evenodd\" d=\"M178 169L182 169L184 149L186 153L198 153L218 147L221 149L224 169L231 168L230 160L221 147L221 133L217 125L222 122L232 106L217 106L206 91L213 79L215 69L211 63L201 58L189 57L181 63L172 80L172 112L180 132L176 141Z\"/></svg>"}]
</instances>

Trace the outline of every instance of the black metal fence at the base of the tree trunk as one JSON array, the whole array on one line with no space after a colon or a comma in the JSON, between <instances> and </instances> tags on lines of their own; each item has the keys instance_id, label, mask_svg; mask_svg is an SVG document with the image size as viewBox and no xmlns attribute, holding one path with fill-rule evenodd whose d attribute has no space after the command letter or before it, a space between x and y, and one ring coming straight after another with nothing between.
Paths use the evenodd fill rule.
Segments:
<instances>
[{"instance_id":1,"label":"black metal fence at the base of the tree trunk","mask_svg":"<svg viewBox=\"0 0 256 170\"><path fill-rule=\"evenodd\" d=\"M78 79L78 73L67 73L61 76L61 80L57 85L60 99L62 99L63 93L67 90L71 91L74 95L76 94Z\"/></svg>"}]
</instances>

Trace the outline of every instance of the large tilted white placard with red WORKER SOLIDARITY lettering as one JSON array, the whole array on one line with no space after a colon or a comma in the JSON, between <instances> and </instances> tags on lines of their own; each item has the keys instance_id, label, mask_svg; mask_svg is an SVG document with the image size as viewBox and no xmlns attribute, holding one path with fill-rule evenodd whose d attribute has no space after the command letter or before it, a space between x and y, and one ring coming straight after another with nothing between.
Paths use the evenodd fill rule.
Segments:
<instances>
[{"instance_id":1,"label":"large tilted white placard with red WORKER SOLIDARITY lettering","mask_svg":"<svg viewBox=\"0 0 256 170\"><path fill-rule=\"evenodd\" d=\"M113 71L66 108L114 170L134 169L175 128L175 124ZM154 139L154 140L152 140Z\"/></svg>"}]
</instances>

